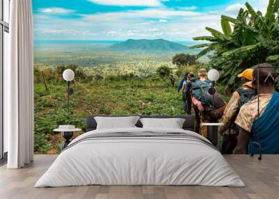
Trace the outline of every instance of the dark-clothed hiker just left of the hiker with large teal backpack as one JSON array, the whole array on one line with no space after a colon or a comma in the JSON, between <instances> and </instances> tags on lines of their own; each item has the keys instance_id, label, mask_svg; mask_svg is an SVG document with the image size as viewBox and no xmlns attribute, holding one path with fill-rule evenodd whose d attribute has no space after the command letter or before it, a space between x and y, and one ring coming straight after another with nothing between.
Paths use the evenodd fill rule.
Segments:
<instances>
[{"instance_id":1,"label":"dark-clothed hiker just left of the hiker with large teal backpack","mask_svg":"<svg viewBox=\"0 0 279 199\"><path fill-rule=\"evenodd\" d=\"M186 80L183 82L183 86L182 86L182 97L183 100L185 100L186 102L186 109L184 109L186 111L186 113L188 115L191 114L192 111L192 97L191 97L191 93L190 93L190 79L194 78L194 73L193 72L189 72L188 76L186 78Z\"/></svg>"}]
</instances>

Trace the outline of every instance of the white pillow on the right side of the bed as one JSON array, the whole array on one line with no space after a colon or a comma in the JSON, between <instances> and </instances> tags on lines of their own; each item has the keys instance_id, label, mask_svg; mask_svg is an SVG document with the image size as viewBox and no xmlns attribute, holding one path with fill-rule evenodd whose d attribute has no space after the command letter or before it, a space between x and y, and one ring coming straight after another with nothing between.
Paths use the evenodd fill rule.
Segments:
<instances>
[{"instance_id":1,"label":"white pillow on the right side of the bed","mask_svg":"<svg viewBox=\"0 0 279 199\"><path fill-rule=\"evenodd\" d=\"M141 118L143 128L182 129L185 119L182 118Z\"/></svg>"}]
</instances>

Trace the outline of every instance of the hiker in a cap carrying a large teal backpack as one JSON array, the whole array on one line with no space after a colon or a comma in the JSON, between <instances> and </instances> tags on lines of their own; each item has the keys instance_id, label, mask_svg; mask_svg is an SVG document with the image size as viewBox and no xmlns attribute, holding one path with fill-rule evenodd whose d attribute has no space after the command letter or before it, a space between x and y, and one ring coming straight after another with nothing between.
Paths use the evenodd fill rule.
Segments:
<instances>
[{"instance_id":1,"label":"hiker in a cap carrying a large teal backpack","mask_svg":"<svg viewBox=\"0 0 279 199\"><path fill-rule=\"evenodd\" d=\"M202 123L217 122L223 116L226 103L223 98L216 92L213 95L209 94L209 89L212 87L209 80L206 80L206 70L199 70L199 79L192 79L192 102L195 110L196 128L195 131L202 136L207 136L206 126Z\"/></svg>"}]
</instances>

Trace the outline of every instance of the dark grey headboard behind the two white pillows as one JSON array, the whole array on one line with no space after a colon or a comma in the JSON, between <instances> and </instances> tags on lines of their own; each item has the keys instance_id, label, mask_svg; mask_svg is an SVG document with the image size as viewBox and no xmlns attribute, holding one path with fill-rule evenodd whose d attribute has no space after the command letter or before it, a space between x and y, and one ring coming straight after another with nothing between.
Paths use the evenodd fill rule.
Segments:
<instances>
[{"instance_id":1,"label":"dark grey headboard behind the two white pillows","mask_svg":"<svg viewBox=\"0 0 279 199\"><path fill-rule=\"evenodd\" d=\"M96 129L97 122L94 119L95 116L86 117L86 132L90 132ZM106 117L117 117L117 116L106 116ZM118 116L118 117L128 117L128 116ZM183 129L195 132L195 116L192 115L181 115L181 116L140 116L140 118L183 118L185 122L183 123ZM142 127L142 122L140 120L135 124L136 127Z\"/></svg>"}]
</instances>

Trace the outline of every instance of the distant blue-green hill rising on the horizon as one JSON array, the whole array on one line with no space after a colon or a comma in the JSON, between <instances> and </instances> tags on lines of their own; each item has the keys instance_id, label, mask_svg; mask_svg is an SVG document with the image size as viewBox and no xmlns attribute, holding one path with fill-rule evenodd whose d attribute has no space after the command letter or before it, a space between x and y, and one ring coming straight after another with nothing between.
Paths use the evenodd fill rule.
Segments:
<instances>
[{"instance_id":1,"label":"distant blue-green hill rising on the horizon","mask_svg":"<svg viewBox=\"0 0 279 199\"><path fill-rule=\"evenodd\" d=\"M110 47L112 51L188 52L189 47L168 40L126 40Z\"/></svg>"}]
</instances>

